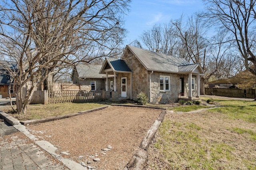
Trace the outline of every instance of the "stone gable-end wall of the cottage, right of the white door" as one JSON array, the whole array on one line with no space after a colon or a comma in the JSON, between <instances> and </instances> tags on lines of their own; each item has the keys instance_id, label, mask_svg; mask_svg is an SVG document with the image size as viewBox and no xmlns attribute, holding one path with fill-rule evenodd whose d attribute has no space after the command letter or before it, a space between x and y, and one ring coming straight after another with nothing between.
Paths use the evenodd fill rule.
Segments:
<instances>
[{"instance_id":1,"label":"stone gable-end wall of the cottage, right of the white door","mask_svg":"<svg viewBox=\"0 0 256 170\"><path fill-rule=\"evenodd\" d=\"M132 99L137 100L137 95L140 92L143 92L149 96L149 74L146 68L129 50L124 52L122 59L132 70ZM127 79L127 84L129 84L130 92L130 74L127 76L127 78L129 78L129 80ZM130 93L128 93L128 96L130 97Z\"/></svg>"}]
</instances>

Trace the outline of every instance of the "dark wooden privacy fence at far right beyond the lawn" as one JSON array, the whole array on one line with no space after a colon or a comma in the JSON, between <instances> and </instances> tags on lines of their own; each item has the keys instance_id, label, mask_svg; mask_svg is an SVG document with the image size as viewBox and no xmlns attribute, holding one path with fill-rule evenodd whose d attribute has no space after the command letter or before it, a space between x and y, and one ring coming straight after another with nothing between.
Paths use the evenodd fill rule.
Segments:
<instances>
[{"instance_id":1,"label":"dark wooden privacy fence at far right beyond the lawn","mask_svg":"<svg viewBox=\"0 0 256 170\"><path fill-rule=\"evenodd\" d=\"M204 88L204 93L207 95L226 96L232 98L255 98L255 89Z\"/></svg>"}]
</instances>

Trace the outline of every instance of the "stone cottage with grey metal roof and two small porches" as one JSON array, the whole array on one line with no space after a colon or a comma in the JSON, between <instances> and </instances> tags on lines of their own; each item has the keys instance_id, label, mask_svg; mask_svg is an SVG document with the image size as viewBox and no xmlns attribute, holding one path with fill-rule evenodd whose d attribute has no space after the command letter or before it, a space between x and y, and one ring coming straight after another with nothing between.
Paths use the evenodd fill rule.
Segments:
<instances>
[{"instance_id":1,"label":"stone cottage with grey metal roof and two small porches","mask_svg":"<svg viewBox=\"0 0 256 170\"><path fill-rule=\"evenodd\" d=\"M137 99L144 92L152 103L166 103L187 96L200 96L200 64L190 64L178 57L156 53L127 45L121 59L105 59L100 74L106 75L106 84L113 81L112 98ZM106 86L106 98L110 96Z\"/></svg>"}]
</instances>

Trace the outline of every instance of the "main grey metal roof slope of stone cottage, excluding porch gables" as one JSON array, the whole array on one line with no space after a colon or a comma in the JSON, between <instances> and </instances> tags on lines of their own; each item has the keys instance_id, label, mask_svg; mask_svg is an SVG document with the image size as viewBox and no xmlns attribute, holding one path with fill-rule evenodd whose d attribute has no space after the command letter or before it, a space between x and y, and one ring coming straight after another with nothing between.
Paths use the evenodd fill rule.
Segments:
<instances>
[{"instance_id":1,"label":"main grey metal roof slope of stone cottage, excluding porch gables","mask_svg":"<svg viewBox=\"0 0 256 170\"><path fill-rule=\"evenodd\" d=\"M178 66L190 64L185 59L156 53L138 47L127 45L135 57L142 63L147 70L156 70L162 72L179 72Z\"/></svg>"}]
</instances>

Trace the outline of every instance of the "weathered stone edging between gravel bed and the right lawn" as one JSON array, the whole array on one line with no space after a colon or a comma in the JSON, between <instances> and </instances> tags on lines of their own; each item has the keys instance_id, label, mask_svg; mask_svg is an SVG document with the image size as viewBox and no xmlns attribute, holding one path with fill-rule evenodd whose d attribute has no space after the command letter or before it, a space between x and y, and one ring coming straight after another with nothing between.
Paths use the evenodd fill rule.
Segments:
<instances>
[{"instance_id":1,"label":"weathered stone edging between gravel bed and the right lawn","mask_svg":"<svg viewBox=\"0 0 256 170\"><path fill-rule=\"evenodd\" d=\"M166 114L166 109L163 110L158 119L153 123L153 125L148 130L146 136L140 143L139 150L132 156L132 159L128 162L128 164L124 167L124 170L141 170L144 169L145 163L148 158L148 147L152 143L154 136L161 122L164 120L164 116Z\"/></svg>"}]
</instances>

